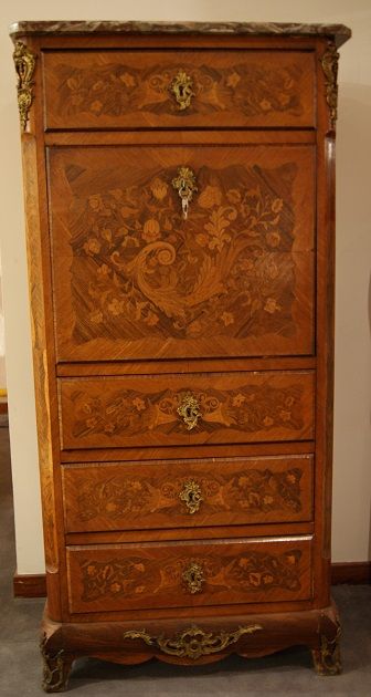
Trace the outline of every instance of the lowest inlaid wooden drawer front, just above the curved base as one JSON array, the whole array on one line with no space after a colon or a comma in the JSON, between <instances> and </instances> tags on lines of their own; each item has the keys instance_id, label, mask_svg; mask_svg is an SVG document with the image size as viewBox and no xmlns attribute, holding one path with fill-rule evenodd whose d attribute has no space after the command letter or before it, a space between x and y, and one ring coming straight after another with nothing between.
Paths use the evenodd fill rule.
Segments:
<instances>
[{"instance_id":1,"label":"lowest inlaid wooden drawer front, just above the curved base","mask_svg":"<svg viewBox=\"0 0 371 697\"><path fill-rule=\"evenodd\" d=\"M311 539L67 548L72 613L311 596Z\"/></svg>"}]
</instances>

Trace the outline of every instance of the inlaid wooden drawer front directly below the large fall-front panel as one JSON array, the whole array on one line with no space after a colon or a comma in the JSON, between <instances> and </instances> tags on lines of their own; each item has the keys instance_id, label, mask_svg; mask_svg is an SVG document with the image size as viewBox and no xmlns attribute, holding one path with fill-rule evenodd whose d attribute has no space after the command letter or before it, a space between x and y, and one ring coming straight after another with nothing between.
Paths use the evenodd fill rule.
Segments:
<instances>
[{"instance_id":1,"label":"inlaid wooden drawer front directly below the large fall-front panel","mask_svg":"<svg viewBox=\"0 0 371 697\"><path fill-rule=\"evenodd\" d=\"M61 378L63 449L310 440L311 371Z\"/></svg>"}]
</instances>

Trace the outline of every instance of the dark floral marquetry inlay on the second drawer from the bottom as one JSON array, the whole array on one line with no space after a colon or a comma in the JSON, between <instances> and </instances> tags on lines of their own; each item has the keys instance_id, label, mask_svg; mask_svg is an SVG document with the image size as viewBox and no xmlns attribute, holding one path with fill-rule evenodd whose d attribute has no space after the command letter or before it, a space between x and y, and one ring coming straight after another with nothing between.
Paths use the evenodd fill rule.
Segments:
<instances>
[{"instance_id":1,"label":"dark floral marquetry inlay on the second drawer from the bottom","mask_svg":"<svg viewBox=\"0 0 371 697\"><path fill-rule=\"evenodd\" d=\"M116 521L130 516L132 520L160 511L172 516L231 510L250 516L298 513L303 509L301 476L298 467L276 472L248 468L232 476L223 471L214 477L199 476L197 480L178 477L162 482L158 471L153 480L121 476L86 481L77 497L78 518L83 522L98 517Z\"/></svg>"}]
</instances>

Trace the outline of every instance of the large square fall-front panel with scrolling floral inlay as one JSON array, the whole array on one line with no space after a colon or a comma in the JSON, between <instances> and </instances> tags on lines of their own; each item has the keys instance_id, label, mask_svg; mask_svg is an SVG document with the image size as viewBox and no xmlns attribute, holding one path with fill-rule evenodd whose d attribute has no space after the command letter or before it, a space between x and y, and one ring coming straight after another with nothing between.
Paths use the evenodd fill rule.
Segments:
<instances>
[{"instance_id":1,"label":"large square fall-front panel with scrolling floral inlay","mask_svg":"<svg viewBox=\"0 0 371 697\"><path fill-rule=\"evenodd\" d=\"M311 145L51 148L57 360L311 355L314 173Z\"/></svg>"}]
</instances>

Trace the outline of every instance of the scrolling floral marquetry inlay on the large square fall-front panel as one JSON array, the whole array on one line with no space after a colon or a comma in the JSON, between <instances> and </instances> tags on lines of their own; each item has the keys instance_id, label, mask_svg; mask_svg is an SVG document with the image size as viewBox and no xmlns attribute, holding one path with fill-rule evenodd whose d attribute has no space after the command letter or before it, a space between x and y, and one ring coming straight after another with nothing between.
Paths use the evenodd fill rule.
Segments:
<instances>
[{"instance_id":1,"label":"scrolling floral marquetry inlay on the large square fall-front panel","mask_svg":"<svg viewBox=\"0 0 371 697\"><path fill-rule=\"evenodd\" d=\"M202 167L187 221L172 168L93 189L72 221L74 341L293 335L296 170Z\"/></svg>"}]
</instances>

